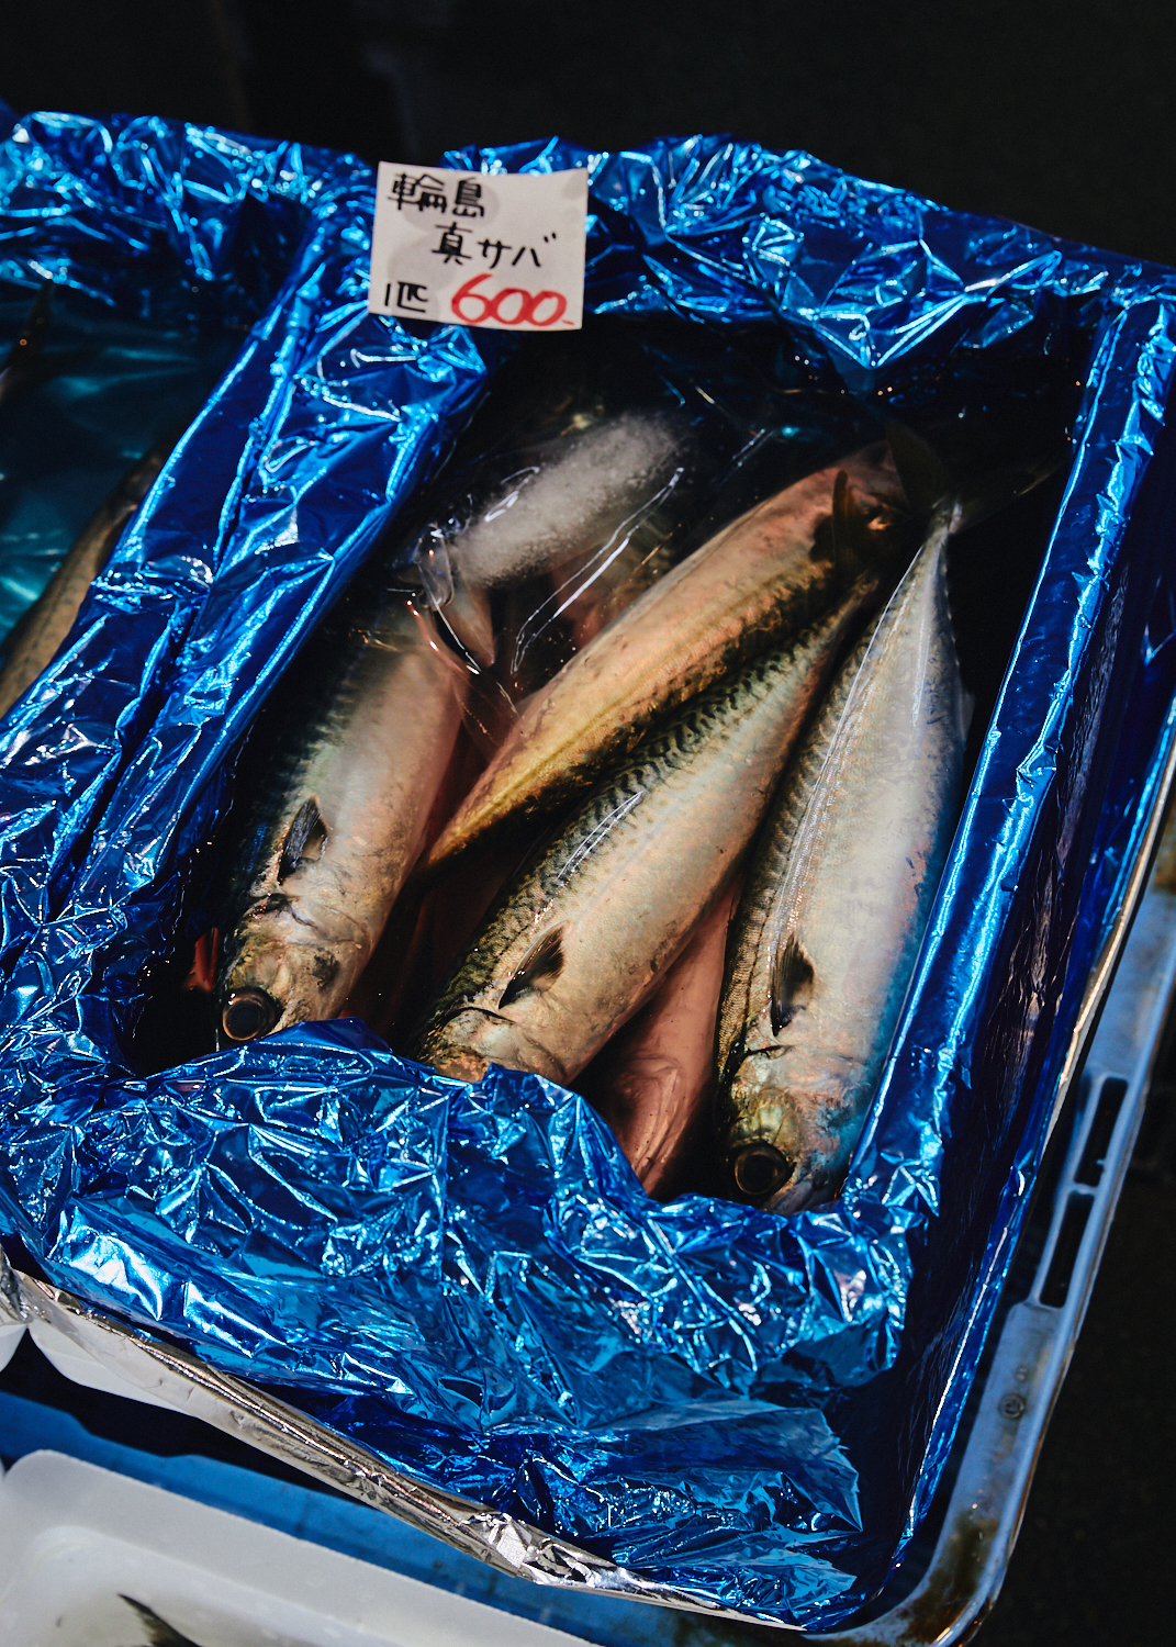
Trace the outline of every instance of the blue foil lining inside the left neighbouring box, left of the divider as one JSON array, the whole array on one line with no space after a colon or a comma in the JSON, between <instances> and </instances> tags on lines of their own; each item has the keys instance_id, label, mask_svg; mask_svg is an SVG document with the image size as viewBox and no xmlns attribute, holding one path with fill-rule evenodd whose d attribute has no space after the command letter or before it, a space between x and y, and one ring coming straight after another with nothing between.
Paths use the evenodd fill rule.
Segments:
<instances>
[{"instance_id":1,"label":"blue foil lining inside the left neighbouring box, left of the divider","mask_svg":"<svg viewBox=\"0 0 1176 1647\"><path fill-rule=\"evenodd\" d=\"M13 117L0 105L0 135ZM49 379L0 420L0 639L127 469L198 410L354 161L163 120L25 122L0 166L0 316L54 280ZM16 282L16 285L8 285Z\"/></svg>"}]
</instances>

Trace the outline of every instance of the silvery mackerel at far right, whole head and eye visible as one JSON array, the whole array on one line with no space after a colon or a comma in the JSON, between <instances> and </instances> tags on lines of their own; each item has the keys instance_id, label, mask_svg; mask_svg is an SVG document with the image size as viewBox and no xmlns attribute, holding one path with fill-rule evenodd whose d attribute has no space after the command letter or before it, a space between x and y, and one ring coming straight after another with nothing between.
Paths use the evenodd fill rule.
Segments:
<instances>
[{"instance_id":1,"label":"silvery mackerel at far right, whole head and eye visible","mask_svg":"<svg viewBox=\"0 0 1176 1647\"><path fill-rule=\"evenodd\" d=\"M842 669L748 870L720 1003L720 1153L782 1215L840 1186L875 1095L960 805L970 700L942 507Z\"/></svg>"}]
</instances>

